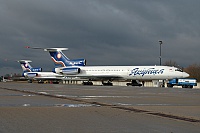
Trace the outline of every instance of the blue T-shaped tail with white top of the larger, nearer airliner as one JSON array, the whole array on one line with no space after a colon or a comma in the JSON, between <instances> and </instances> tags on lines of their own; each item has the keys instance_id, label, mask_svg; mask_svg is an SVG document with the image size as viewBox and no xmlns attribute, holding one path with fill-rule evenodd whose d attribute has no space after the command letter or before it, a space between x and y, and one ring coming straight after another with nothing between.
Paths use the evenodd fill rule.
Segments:
<instances>
[{"instance_id":1,"label":"blue T-shaped tail with white top of the larger, nearer airliner","mask_svg":"<svg viewBox=\"0 0 200 133\"><path fill-rule=\"evenodd\" d=\"M48 51L51 59L53 60L55 67L68 67L68 66L85 66L85 59L72 59L70 60L62 52L63 50L68 50L68 48L46 48L44 51Z\"/></svg>"}]
</instances>

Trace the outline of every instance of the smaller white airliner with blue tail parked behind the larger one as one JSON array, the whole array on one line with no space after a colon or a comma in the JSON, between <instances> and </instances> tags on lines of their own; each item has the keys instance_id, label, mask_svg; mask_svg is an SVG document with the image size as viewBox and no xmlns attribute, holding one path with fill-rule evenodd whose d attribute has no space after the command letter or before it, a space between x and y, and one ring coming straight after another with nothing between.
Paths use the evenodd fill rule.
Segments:
<instances>
[{"instance_id":1,"label":"smaller white airliner with blue tail parked behind the larger one","mask_svg":"<svg viewBox=\"0 0 200 133\"><path fill-rule=\"evenodd\" d=\"M29 62L30 60L19 60L23 69L23 76L32 82L33 79L37 80L38 83L43 83L44 80L52 81L52 83L59 83L63 79L63 75L54 72L42 72L42 68L33 68Z\"/></svg>"}]
</instances>

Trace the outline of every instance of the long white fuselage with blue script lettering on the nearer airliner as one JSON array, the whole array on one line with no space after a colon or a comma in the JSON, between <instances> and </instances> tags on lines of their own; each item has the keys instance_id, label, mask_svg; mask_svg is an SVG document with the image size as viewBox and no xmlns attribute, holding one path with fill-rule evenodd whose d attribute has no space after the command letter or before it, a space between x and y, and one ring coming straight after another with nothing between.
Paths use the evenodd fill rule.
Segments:
<instances>
[{"instance_id":1,"label":"long white fuselage with blue script lettering on the nearer airliner","mask_svg":"<svg viewBox=\"0 0 200 133\"><path fill-rule=\"evenodd\" d=\"M70 67L73 68L73 67ZM74 66L77 68L77 66ZM80 72L77 74L66 74L67 76L77 77L112 77L130 80L156 80L173 79L188 77L189 74L181 69L169 66L83 66L78 67ZM59 68L62 71L62 68ZM57 73L61 71L57 70Z\"/></svg>"}]
</instances>

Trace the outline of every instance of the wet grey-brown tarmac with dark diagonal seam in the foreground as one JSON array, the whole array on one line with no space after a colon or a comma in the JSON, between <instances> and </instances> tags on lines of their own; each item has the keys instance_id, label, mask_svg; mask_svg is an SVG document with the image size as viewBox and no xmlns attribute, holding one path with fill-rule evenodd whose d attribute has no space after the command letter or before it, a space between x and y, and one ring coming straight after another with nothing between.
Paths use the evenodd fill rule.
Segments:
<instances>
[{"instance_id":1,"label":"wet grey-brown tarmac with dark diagonal seam in the foreground","mask_svg":"<svg viewBox=\"0 0 200 133\"><path fill-rule=\"evenodd\" d=\"M199 133L200 89L0 83L0 133Z\"/></svg>"}]
</instances>

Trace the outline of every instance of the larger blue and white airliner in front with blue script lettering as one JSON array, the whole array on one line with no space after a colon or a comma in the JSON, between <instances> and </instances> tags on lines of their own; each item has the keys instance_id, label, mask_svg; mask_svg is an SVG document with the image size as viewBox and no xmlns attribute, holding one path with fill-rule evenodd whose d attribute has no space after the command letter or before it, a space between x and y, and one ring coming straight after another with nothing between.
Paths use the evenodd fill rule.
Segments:
<instances>
[{"instance_id":1,"label":"larger blue and white airliner in front with blue script lettering","mask_svg":"<svg viewBox=\"0 0 200 133\"><path fill-rule=\"evenodd\" d=\"M103 85L112 85L113 80L132 80L132 84L136 80L166 80L173 78L185 78L189 74L181 69L170 66L85 66L85 65L69 65L66 63L66 56L62 50L67 48L46 48L49 51L52 60L56 66L54 72L67 77L78 77L88 79L88 83L92 84L93 80L101 80ZM104 83L103 81L108 81Z\"/></svg>"}]
</instances>

